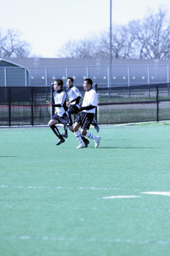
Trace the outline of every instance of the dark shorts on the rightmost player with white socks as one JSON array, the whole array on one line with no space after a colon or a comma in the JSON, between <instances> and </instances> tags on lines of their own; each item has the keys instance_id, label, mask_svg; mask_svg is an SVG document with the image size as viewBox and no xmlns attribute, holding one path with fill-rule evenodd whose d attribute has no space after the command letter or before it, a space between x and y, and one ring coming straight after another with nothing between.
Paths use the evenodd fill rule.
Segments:
<instances>
[{"instance_id":1,"label":"dark shorts on the rightmost player with white socks","mask_svg":"<svg viewBox=\"0 0 170 256\"><path fill-rule=\"evenodd\" d=\"M80 111L77 115L75 122L81 125L82 129L89 130L90 124L94 119L94 113L86 113Z\"/></svg>"}]
</instances>

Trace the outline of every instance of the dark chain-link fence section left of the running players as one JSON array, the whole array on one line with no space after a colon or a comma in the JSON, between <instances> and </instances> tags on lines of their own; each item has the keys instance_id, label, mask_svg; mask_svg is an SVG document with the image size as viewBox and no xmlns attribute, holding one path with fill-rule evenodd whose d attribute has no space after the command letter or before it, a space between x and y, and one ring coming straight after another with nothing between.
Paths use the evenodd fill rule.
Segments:
<instances>
[{"instance_id":1,"label":"dark chain-link fence section left of the running players","mask_svg":"<svg viewBox=\"0 0 170 256\"><path fill-rule=\"evenodd\" d=\"M0 125L47 124L51 95L51 87L0 87Z\"/></svg>"}]
</instances>

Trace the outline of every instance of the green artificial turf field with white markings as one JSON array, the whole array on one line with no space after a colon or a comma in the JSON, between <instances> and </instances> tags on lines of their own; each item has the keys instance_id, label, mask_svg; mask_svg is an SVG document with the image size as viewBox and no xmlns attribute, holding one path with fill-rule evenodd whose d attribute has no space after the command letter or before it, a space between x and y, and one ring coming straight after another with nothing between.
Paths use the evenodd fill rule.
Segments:
<instances>
[{"instance_id":1,"label":"green artificial turf field with white markings","mask_svg":"<svg viewBox=\"0 0 170 256\"><path fill-rule=\"evenodd\" d=\"M1 256L170 255L169 123L90 131L0 128Z\"/></svg>"}]
</instances>

